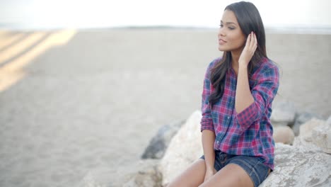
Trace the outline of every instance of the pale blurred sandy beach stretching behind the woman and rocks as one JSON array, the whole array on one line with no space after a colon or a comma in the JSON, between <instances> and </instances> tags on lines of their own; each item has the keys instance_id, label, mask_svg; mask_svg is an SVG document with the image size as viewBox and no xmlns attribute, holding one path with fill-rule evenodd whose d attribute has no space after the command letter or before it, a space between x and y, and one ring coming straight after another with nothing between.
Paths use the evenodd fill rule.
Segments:
<instances>
[{"instance_id":1,"label":"pale blurred sandy beach stretching behind the woman and rocks","mask_svg":"<svg viewBox=\"0 0 331 187\"><path fill-rule=\"evenodd\" d=\"M117 186L162 125L200 109L217 30L0 31L0 186ZM267 33L275 102L331 115L331 35Z\"/></svg>"}]
</instances>

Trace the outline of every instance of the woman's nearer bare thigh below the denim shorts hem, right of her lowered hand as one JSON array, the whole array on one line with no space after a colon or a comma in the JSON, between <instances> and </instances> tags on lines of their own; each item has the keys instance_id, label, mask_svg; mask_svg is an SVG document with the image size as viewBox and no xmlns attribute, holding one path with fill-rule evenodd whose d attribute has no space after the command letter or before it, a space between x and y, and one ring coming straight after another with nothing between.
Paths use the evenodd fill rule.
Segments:
<instances>
[{"instance_id":1,"label":"woman's nearer bare thigh below the denim shorts hem, right of her lowered hand","mask_svg":"<svg viewBox=\"0 0 331 187\"><path fill-rule=\"evenodd\" d=\"M237 164L228 164L218 171L208 181L202 183L199 187L254 187L252 179L246 171Z\"/></svg>"}]
</instances>

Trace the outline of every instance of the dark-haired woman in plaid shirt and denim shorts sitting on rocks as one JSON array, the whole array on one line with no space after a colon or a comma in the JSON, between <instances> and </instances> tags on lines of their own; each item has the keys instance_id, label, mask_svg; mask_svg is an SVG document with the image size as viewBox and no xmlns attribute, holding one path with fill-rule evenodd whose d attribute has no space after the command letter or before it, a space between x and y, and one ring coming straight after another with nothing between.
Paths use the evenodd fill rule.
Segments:
<instances>
[{"instance_id":1,"label":"dark-haired woman in plaid shirt and denim shorts sitting on rocks","mask_svg":"<svg viewBox=\"0 0 331 187\"><path fill-rule=\"evenodd\" d=\"M259 186L274 169L272 101L279 70L267 58L265 29L249 2L226 6L223 57L209 64L202 92L204 156L168 186Z\"/></svg>"}]
</instances>

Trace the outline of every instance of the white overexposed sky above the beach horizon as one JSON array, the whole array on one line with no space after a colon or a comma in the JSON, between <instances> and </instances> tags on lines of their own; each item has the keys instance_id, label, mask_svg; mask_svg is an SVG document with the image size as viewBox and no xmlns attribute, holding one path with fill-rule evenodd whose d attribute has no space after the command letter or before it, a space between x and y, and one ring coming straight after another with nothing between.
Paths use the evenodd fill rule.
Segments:
<instances>
[{"instance_id":1,"label":"white overexposed sky above the beach horizon","mask_svg":"<svg viewBox=\"0 0 331 187\"><path fill-rule=\"evenodd\" d=\"M27 28L217 28L228 0L1 0L0 23ZM331 28L328 0L252 0L266 27Z\"/></svg>"}]
</instances>

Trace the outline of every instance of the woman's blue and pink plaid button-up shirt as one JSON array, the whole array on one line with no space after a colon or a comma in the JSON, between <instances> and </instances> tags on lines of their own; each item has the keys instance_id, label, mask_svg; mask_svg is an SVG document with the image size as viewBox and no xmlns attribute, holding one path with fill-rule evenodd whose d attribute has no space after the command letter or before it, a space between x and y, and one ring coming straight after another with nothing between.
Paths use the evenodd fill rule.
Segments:
<instances>
[{"instance_id":1,"label":"woman's blue and pink plaid button-up shirt","mask_svg":"<svg viewBox=\"0 0 331 187\"><path fill-rule=\"evenodd\" d=\"M237 77L232 68L226 72L222 98L213 108L209 105L209 96L214 91L210 70L219 60L221 59L209 64L204 77L201 131L215 132L214 149L227 154L257 156L273 170L274 140L270 115L272 101L279 86L279 70L271 60L263 58L262 64L253 70L249 80L254 103L236 113L234 106Z\"/></svg>"}]
</instances>

